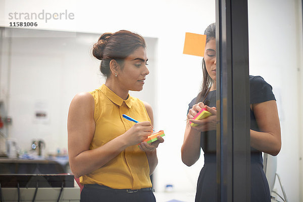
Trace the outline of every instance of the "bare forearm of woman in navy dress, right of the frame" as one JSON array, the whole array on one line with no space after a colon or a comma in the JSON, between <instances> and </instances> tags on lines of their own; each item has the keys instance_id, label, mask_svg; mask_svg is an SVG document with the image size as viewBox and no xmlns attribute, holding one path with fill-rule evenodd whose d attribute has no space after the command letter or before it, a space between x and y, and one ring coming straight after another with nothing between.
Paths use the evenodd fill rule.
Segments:
<instances>
[{"instance_id":1,"label":"bare forearm of woman in navy dress, right of the frame","mask_svg":"<svg viewBox=\"0 0 303 202\"><path fill-rule=\"evenodd\" d=\"M250 146L272 156L277 156L281 149L281 141L273 133L250 130Z\"/></svg>"}]
</instances>

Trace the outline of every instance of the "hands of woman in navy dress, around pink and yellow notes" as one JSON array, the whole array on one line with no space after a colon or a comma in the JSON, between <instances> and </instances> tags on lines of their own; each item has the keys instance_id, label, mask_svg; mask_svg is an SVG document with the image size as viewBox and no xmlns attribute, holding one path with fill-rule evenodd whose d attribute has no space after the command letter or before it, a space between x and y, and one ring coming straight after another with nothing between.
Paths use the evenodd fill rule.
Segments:
<instances>
[{"instance_id":1,"label":"hands of woman in navy dress, around pink and yellow notes","mask_svg":"<svg viewBox=\"0 0 303 202\"><path fill-rule=\"evenodd\" d=\"M212 116L209 116L205 119L201 120L193 120L193 117L202 109L206 108L207 111L212 113ZM215 107L209 107L204 105L203 103L198 103L193 105L192 108L189 110L187 118L190 122L198 124L198 126L191 126L191 128L198 130L200 132L209 131L209 130L216 130L217 127L217 110Z\"/></svg>"}]
</instances>

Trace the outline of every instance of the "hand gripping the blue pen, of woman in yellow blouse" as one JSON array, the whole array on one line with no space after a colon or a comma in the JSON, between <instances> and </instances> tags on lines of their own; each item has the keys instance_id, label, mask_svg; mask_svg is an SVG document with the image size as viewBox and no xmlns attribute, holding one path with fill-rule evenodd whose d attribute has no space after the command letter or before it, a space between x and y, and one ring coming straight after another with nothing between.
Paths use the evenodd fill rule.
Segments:
<instances>
[{"instance_id":1,"label":"hand gripping the blue pen, of woman in yellow blouse","mask_svg":"<svg viewBox=\"0 0 303 202\"><path fill-rule=\"evenodd\" d=\"M138 122L124 133L128 146L136 145L153 133L153 126L149 121Z\"/></svg>"}]
</instances>

